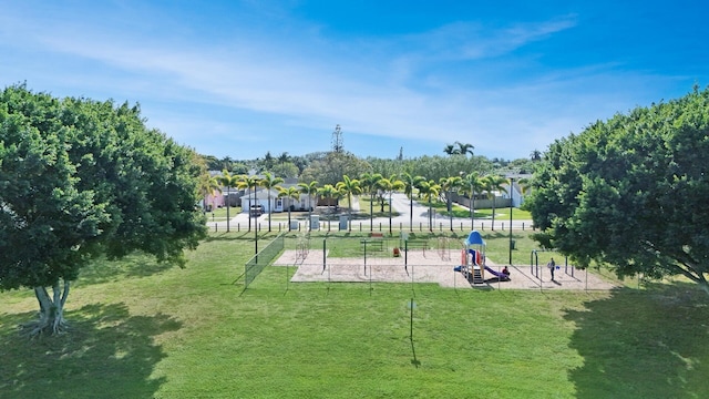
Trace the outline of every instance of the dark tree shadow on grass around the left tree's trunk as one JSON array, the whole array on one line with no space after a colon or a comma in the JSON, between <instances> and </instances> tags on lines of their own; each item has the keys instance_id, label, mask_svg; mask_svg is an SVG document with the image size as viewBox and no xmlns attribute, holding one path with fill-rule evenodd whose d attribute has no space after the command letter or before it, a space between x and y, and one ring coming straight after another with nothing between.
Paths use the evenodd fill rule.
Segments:
<instances>
[{"instance_id":1,"label":"dark tree shadow on grass around the left tree's trunk","mask_svg":"<svg viewBox=\"0 0 709 399\"><path fill-rule=\"evenodd\" d=\"M165 382L152 377L166 355L153 337L179 329L171 316L131 316L125 305L88 305L66 314L70 330L28 339L17 325L31 313L0 323L2 398L151 398Z\"/></svg>"}]
</instances>

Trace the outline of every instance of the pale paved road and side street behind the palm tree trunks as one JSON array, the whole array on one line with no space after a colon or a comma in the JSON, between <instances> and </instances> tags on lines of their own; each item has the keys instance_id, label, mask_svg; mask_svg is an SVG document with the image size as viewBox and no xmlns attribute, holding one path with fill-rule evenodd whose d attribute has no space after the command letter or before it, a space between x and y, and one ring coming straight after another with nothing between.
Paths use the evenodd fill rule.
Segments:
<instances>
[{"instance_id":1,"label":"pale paved road and side street behind the palm tree trunks","mask_svg":"<svg viewBox=\"0 0 709 399\"><path fill-rule=\"evenodd\" d=\"M354 201L352 202L353 204L356 203ZM357 207L359 207L359 202L357 202ZM405 194L402 193L394 193L391 196L391 205L392 208L394 211L397 211L400 215L399 216L394 216L391 219L391 224L394 228L399 228L399 226L409 226L410 225L410 221L413 219L413 228L414 229L419 229L419 228L423 228L423 229L428 229L429 226L429 208L425 204L419 203L417 201L413 202L413 217L411 217L411 207L410 207L410 201L407 197ZM353 206L354 207L354 206ZM251 219L251 224L254 223L254 219ZM268 215L264 214L260 217L258 217L258 223L260 224L261 229L267 229L268 228ZM287 222L276 222L276 221L271 221L271 228L273 229L278 229L278 223L282 224L282 228L286 228L286 224ZM307 222L300 221L299 222L301 224L301 228L307 228ZM456 231L461 229L461 223L463 224L463 229L470 229L470 218L469 217L453 217L453 228ZM381 224L382 228L388 228L389 227L389 218L388 217L377 217L373 219L373 225L374 226L379 226L379 224ZM218 229L218 231L226 231L226 221L222 221L222 222L207 222L207 225L212 228L212 229ZM242 231L248 228L248 215L246 213L239 213L236 216L232 217L230 221L230 228L232 229L236 229L236 226L239 226L239 228ZM325 225L325 227L327 228L327 222L326 223L320 223L320 227L322 228L322 226ZM359 226L367 226L369 227L369 219L362 219L362 221L354 221L352 222L352 228L354 229L357 226L357 229L359 229ZM450 229L450 218L440 214L434 214L433 215L433 226L434 229ZM499 217L495 217L495 229L503 229L503 228L508 228L510 226L510 219L505 218L504 215L499 215ZM332 228L337 228L337 222L332 222L331 223L331 227ZM490 229L492 227L492 218L475 218L475 228L476 229ZM512 221L512 228L513 229L530 229L532 227L532 221Z\"/></svg>"}]
</instances>

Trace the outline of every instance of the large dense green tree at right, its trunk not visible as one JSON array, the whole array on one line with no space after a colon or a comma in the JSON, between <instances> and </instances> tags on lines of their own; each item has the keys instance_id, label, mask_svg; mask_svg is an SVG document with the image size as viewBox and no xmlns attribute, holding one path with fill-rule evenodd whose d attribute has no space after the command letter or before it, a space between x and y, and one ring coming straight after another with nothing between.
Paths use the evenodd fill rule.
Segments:
<instances>
[{"instance_id":1,"label":"large dense green tree at right, its trunk not visible","mask_svg":"<svg viewBox=\"0 0 709 399\"><path fill-rule=\"evenodd\" d=\"M619 276L682 275L708 294L709 91L556 141L526 198L540 239Z\"/></svg>"}]
</instances>

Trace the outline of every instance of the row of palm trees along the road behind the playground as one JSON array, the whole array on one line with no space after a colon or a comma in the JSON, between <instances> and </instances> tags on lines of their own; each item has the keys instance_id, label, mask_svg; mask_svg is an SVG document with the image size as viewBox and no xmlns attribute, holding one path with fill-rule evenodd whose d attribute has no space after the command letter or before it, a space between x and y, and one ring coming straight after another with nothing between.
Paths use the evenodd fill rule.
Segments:
<instances>
[{"instance_id":1,"label":"row of palm trees along the road behind the playground","mask_svg":"<svg viewBox=\"0 0 709 399\"><path fill-rule=\"evenodd\" d=\"M248 175L232 175L227 171L224 171L220 176L206 176L202 182L202 194L204 196L214 194L215 192L222 193L222 187L227 190L227 198L232 188L249 190L254 195L254 203L256 202L256 190L263 187L270 193L271 190L279 192L278 197L298 200L301 194L308 196L308 216L311 219L312 205L311 198L330 198L331 201L340 197L347 197L348 200L348 229L352 228L352 196L360 194L370 195L370 229L373 228L373 204L374 196L381 201L383 211L383 202L386 196L389 196L389 232L391 233L391 196L394 192L403 191L409 197L409 225L413 226L413 200L414 196L427 201L429 206L429 229L433 228L433 200L444 195L446 200L446 207L450 214L450 228L453 229L453 213L452 211L452 194L458 193L467 196L470 201L470 218L471 225L475 223L475 209L474 201L476 194L485 194L492 200L492 223L494 228L495 222L495 192L507 193L506 185L511 184L511 181L500 175L484 175L481 176L477 172L463 173L458 176L442 177L438 182L434 180L427 180L423 176L411 175L409 173L402 173L401 175L391 175L384 177L380 173L363 173L359 178L351 178L348 175L342 176L342 181L332 184L325 184L319 187L318 182L298 183L298 186L282 187L280 184L284 180L274 176L271 173L264 173L264 177L248 176ZM229 232L229 207L227 204L227 232ZM271 196L268 195L268 231L271 231ZM290 206L288 206L288 225L290 225ZM249 231L251 229L251 218L249 217Z\"/></svg>"}]
</instances>

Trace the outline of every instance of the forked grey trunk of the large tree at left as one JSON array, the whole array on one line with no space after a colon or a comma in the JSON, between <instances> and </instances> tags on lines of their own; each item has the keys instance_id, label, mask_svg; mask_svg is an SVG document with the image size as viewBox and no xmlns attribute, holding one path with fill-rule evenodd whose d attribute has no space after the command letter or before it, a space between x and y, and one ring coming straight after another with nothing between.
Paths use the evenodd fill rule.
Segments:
<instances>
[{"instance_id":1,"label":"forked grey trunk of the large tree at left","mask_svg":"<svg viewBox=\"0 0 709 399\"><path fill-rule=\"evenodd\" d=\"M40 305L39 320L22 326L23 332L30 337L55 335L63 332L68 325L64 319L64 304L69 297L68 280L64 280L63 289L59 283L52 287L50 297L45 287L34 287L34 295Z\"/></svg>"}]
</instances>

